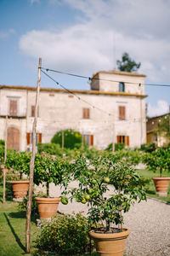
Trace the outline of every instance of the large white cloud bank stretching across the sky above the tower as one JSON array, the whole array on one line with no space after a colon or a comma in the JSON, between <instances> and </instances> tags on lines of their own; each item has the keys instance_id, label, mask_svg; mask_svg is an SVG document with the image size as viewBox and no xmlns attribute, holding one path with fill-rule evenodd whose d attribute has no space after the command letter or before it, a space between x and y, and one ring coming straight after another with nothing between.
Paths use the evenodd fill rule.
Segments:
<instances>
[{"instance_id":1,"label":"large white cloud bank stretching across the sky above the tower","mask_svg":"<svg viewBox=\"0 0 170 256\"><path fill-rule=\"evenodd\" d=\"M31 0L34 2L39 0ZM90 75L114 67L115 47L116 60L128 52L142 63L139 73L145 73L152 82L170 79L167 68L170 2L50 0L48 3L79 10L78 21L56 31L27 32L20 38L20 49L26 55L42 56L48 67Z\"/></svg>"}]
</instances>

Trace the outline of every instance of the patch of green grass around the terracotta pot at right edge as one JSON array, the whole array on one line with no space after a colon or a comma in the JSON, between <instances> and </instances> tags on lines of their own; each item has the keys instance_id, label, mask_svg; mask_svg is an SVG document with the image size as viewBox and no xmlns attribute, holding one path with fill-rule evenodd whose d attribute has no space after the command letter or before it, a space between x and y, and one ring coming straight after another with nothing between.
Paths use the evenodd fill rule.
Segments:
<instances>
[{"instance_id":1,"label":"patch of green grass around the terracotta pot at right edge","mask_svg":"<svg viewBox=\"0 0 170 256\"><path fill-rule=\"evenodd\" d=\"M156 195L155 185L154 185L154 182L152 181L151 177L159 177L159 172L150 172L146 169L138 170L138 172L142 177L146 177L146 178L150 179L150 183L147 183L145 186L146 193L148 196L159 199L161 201L166 201L167 203L170 203L170 183L169 183L169 187L167 190L167 197ZM169 173L164 172L163 177L169 177Z\"/></svg>"}]
</instances>

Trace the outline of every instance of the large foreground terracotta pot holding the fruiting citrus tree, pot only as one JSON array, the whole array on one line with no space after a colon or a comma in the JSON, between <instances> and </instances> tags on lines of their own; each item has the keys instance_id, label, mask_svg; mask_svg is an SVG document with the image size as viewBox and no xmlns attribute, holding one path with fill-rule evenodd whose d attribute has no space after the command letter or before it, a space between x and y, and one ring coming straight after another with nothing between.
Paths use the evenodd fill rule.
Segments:
<instances>
[{"instance_id":1,"label":"large foreground terracotta pot holding the fruiting citrus tree, pot only","mask_svg":"<svg viewBox=\"0 0 170 256\"><path fill-rule=\"evenodd\" d=\"M119 233L95 233L90 231L90 236L94 239L96 251L101 256L123 256L125 243L130 231L122 229Z\"/></svg>"}]
</instances>

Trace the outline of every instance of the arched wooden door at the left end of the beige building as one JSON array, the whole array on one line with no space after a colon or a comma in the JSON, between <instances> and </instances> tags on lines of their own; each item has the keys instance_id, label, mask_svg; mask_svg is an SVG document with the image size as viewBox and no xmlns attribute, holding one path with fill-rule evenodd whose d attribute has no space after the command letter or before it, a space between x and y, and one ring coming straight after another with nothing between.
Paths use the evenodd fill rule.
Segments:
<instances>
[{"instance_id":1,"label":"arched wooden door at the left end of the beige building","mask_svg":"<svg viewBox=\"0 0 170 256\"><path fill-rule=\"evenodd\" d=\"M14 127L8 127L7 131L7 148L20 150L20 131Z\"/></svg>"}]
</instances>

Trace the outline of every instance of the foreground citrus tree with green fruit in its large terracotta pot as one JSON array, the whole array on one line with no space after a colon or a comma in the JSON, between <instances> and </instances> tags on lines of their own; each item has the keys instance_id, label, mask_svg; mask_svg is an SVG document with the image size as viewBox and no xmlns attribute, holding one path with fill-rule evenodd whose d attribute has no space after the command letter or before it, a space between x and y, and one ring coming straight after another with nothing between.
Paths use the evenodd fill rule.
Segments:
<instances>
[{"instance_id":1,"label":"foreground citrus tree with green fruit in its large terracotta pot","mask_svg":"<svg viewBox=\"0 0 170 256\"><path fill-rule=\"evenodd\" d=\"M121 160L117 161L114 154L91 161L81 156L71 164L71 170L72 178L79 185L65 188L63 194L71 200L87 203L89 222L101 225L89 233L97 252L103 256L123 255L130 231L122 228L122 212L128 212L135 201L146 199L139 174Z\"/></svg>"}]
</instances>

